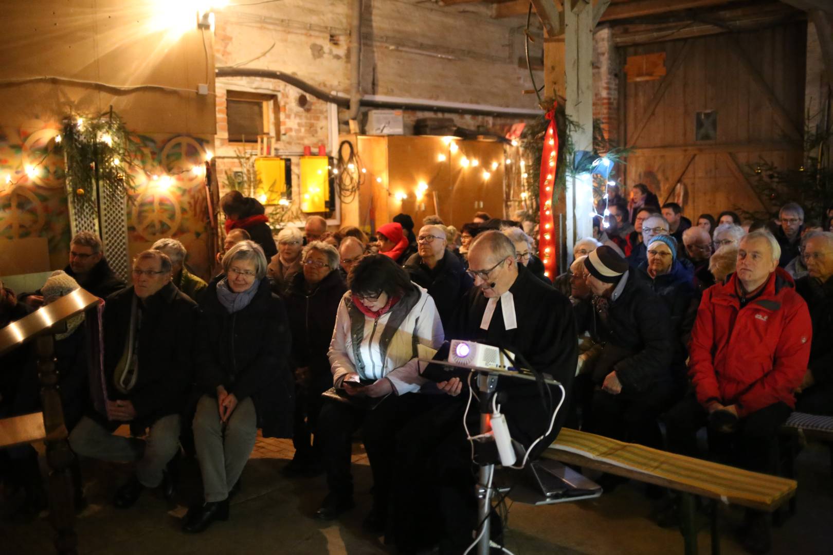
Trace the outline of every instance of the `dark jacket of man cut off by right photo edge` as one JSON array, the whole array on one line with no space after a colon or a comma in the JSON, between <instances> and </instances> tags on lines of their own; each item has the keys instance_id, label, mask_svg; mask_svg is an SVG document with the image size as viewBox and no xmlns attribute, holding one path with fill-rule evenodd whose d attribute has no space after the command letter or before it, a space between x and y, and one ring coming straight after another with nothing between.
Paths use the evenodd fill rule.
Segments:
<instances>
[{"instance_id":1,"label":"dark jacket of man cut off by right photo edge","mask_svg":"<svg viewBox=\"0 0 833 555\"><path fill-rule=\"evenodd\" d=\"M796 281L796 293L807 303L813 323L810 362L816 384L833 383L833 279L821 283L806 275ZM833 407L831 407L833 409Z\"/></svg>"}]
</instances>

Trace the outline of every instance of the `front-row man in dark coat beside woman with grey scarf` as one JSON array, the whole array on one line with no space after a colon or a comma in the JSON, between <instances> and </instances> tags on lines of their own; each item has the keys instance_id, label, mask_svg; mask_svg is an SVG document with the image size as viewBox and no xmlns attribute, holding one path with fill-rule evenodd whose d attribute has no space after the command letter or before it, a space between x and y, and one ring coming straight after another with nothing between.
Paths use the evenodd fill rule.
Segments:
<instances>
[{"instance_id":1,"label":"front-row man in dark coat beside woman with grey scarf","mask_svg":"<svg viewBox=\"0 0 833 555\"><path fill-rule=\"evenodd\" d=\"M136 503L144 488L173 494L167 463L179 451L180 413L192 384L197 304L171 282L171 260L145 250L133 260L133 285L107 297L103 315L107 414L90 413L69 435L84 457L136 462L115 498ZM130 424L132 437L112 433ZM138 439L149 428L147 439Z\"/></svg>"}]
</instances>

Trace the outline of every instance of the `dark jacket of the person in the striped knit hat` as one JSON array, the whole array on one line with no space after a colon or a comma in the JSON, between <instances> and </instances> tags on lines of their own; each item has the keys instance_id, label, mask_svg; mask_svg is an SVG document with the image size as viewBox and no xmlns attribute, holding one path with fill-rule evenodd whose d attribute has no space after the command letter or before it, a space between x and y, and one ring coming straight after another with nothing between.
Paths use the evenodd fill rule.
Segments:
<instances>
[{"instance_id":1,"label":"dark jacket of the person in the striped knit hat","mask_svg":"<svg viewBox=\"0 0 833 555\"><path fill-rule=\"evenodd\" d=\"M626 394L670 385L674 354L666 303L634 273L622 275L610 299L594 299L591 330L596 343L605 342L593 378L601 384L615 370Z\"/></svg>"}]
</instances>

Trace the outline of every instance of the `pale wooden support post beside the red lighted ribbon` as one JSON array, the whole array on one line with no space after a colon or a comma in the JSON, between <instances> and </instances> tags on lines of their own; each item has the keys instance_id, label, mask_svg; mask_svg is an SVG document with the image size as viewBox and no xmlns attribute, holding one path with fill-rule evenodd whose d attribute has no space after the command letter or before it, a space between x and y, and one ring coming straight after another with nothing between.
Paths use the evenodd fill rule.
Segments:
<instances>
[{"instance_id":1,"label":"pale wooden support post beside the red lighted ribbon","mask_svg":"<svg viewBox=\"0 0 833 555\"><path fill-rule=\"evenodd\" d=\"M576 151L593 150L593 8L587 0L568 0L564 6L564 67L566 116L578 126L571 132ZM582 237L592 235L590 217L592 179L589 174L571 176L574 161L565 160L566 245L570 249Z\"/></svg>"}]
</instances>

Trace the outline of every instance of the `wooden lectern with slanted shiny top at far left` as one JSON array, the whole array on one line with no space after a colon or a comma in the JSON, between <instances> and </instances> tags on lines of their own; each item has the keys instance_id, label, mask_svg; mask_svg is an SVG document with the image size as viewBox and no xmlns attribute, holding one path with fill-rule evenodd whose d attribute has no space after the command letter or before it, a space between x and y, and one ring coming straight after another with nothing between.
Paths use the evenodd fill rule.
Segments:
<instances>
[{"instance_id":1,"label":"wooden lectern with slanted shiny top at far left","mask_svg":"<svg viewBox=\"0 0 833 555\"><path fill-rule=\"evenodd\" d=\"M67 442L63 422L59 376L55 369L55 334L67 329L67 319L101 302L86 290L72 291L25 318L0 330L0 355L34 341L37 350L37 374L41 383L42 413L0 419L0 448L43 441L49 465L49 519L57 535L55 549L62 555L77 553L75 508L70 465L75 455ZM2 371L2 369L0 369Z\"/></svg>"}]
</instances>

